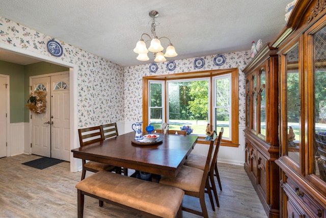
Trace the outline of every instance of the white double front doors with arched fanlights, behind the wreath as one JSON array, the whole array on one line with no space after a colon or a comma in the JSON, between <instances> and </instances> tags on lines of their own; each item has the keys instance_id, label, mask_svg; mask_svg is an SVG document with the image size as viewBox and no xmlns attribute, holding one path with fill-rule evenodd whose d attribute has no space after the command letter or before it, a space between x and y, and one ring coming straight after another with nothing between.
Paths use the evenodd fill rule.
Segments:
<instances>
[{"instance_id":1,"label":"white double front doors with arched fanlights, behind the wreath","mask_svg":"<svg viewBox=\"0 0 326 218\"><path fill-rule=\"evenodd\" d=\"M32 79L32 88L47 91L46 112L32 113L32 154L70 161L69 72Z\"/></svg>"}]
</instances>

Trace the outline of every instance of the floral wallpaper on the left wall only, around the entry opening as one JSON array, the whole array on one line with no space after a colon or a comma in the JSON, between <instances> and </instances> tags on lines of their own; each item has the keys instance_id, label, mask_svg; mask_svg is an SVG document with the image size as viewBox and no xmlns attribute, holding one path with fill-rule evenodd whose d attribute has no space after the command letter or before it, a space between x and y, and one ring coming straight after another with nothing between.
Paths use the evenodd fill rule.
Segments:
<instances>
[{"instance_id":1,"label":"floral wallpaper on the left wall only, around the entry opening","mask_svg":"<svg viewBox=\"0 0 326 218\"><path fill-rule=\"evenodd\" d=\"M56 40L30 28L0 17L0 43L19 47L45 56L51 56L46 44ZM59 42L63 48L61 57L54 57L77 65L77 117L78 127L124 121L123 67Z\"/></svg>"}]
</instances>

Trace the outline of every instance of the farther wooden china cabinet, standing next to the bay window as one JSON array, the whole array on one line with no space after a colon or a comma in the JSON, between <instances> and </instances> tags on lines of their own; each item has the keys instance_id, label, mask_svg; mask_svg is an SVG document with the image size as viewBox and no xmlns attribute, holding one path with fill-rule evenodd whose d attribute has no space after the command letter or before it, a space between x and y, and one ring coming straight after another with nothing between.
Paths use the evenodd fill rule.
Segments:
<instances>
[{"instance_id":1,"label":"farther wooden china cabinet, standing next to the bay window","mask_svg":"<svg viewBox=\"0 0 326 218\"><path fill-rule=\"evenodd\" d=\"M278 50L265 44L243 69L246 76L244 169L266 214L279 217Z\"/></svg>"}]
</instances>

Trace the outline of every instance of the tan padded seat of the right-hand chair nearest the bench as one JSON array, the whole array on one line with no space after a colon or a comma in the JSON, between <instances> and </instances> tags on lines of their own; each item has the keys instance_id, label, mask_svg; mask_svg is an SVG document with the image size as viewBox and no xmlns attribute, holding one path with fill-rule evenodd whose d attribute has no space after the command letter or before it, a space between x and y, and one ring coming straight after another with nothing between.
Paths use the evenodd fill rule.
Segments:
<instances>
[{"instance_id":1,"label":"tan padded seat of the right-hand chair nearest the bench","mask_svg":"<svg viewBox=\"0 0 326 218\"><path fill-rule=\"evenodd\" d=\"M170 185L186 191L199 192L204 171L183 165L176 177L162 177L159 184Z\"/></svg>"}]
</instances>

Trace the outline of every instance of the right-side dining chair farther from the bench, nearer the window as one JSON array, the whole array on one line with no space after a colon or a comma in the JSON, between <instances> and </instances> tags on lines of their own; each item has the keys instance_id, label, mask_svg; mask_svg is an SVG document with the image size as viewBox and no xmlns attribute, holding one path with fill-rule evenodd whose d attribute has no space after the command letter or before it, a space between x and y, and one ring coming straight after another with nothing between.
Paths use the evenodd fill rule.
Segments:
<instances>
[{"instance_id":1,"label":"right-side dining chair farther from the bench, nearer the window","mask_svg":"<svg viewBox=\"0 0 326 218\"><path fill-rule=\"evenodd\" d=\"M211 185L210 188L213 190L216 205L218 207L220 207L220 202L219 202L218 192L216 190L216 184L215 184L215 180L214 180L214 172L215 172L215 176L216 176L216 178L218 180L220 190L222 191L222 185L221 185L217 160L218 160L218 155L219 155L219 150L220 150L220 145L221 145L221 141L222 141L223 132L224 132L224 128L222 127L221 131L219 133L218 139L216 140L216 147L215 147L214 153L212 155L212 161L211 161L211 164L209 166L209 172L208 172L208 178L210 180L210 185ZM190 154L190 155L188 155L187 159L185 160L184 165L204 170L204 168L205 168L205 159L206 159L206 157L203 156L203 155ZM212 204L212 207L213 207L214 203L211 202L211 204Z\"/></svg>"}]
</instances>

